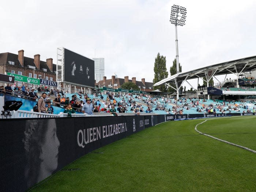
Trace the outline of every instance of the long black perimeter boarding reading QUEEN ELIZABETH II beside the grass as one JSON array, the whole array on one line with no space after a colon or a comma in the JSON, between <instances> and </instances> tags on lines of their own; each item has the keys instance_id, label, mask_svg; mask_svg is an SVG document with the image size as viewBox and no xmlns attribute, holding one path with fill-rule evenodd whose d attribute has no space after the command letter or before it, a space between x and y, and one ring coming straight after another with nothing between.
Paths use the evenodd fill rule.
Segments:
<instances>
[{"instance_id":1,"label":"long black perimeter boarding reading QUEEN ELIZABETH II beside the grass","mask_svg":"<svg viewBox=\"0 0 256 192\"><path fill-rule=\"evenodd\" d=\"M0 191L27 191L75 159L174 117L187 116L1 119Z\"/></svg>"}]
</instances>

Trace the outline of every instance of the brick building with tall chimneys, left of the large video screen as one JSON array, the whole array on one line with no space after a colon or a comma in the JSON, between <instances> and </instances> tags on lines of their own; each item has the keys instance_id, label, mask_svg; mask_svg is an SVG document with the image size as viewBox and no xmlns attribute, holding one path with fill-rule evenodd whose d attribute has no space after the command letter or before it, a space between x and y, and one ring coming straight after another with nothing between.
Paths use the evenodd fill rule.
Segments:
<instances>
[{"instance_id":1,"label":"brick building with tall chimneys, left of the large video screen","mask_svg":"<svg viewBox=\"0 0 256 192\"><path fill-rule=\"evenodd\" d=\"M56 64L53 64L52 58L41 61L39 54L35 54L34 58L24 57L24 50L19 50L18 54L0 53L0 73L6 72L56 81ZM18 82L18 86L21 84Z\"/></svg>"}]
</instances>

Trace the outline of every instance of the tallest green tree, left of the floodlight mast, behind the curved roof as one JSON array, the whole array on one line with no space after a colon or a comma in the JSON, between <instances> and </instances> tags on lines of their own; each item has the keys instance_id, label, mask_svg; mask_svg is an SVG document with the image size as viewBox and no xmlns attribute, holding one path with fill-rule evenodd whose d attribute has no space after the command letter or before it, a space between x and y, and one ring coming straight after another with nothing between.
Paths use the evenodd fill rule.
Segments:
<instances>
[{"instance_id":1,"label":"tallest green tree, left of the floodlight mast, behind the curved roof","mask_svg":"<svg viewBox=\"0 0 256 192\"><path fill-rule=\"evenodd\" d=\"M166 68L166 59L165 57L160 56L160 53L158 53L157 57L155 58L154 72L155 72L155 75L154 75L153 83L157 83L162 79L165 79L168 77L168 72ZM159 86L154 86L154 89L159 89L160 91L165 92L166 86L164 84Z\"/></svg>"}]
</instances>

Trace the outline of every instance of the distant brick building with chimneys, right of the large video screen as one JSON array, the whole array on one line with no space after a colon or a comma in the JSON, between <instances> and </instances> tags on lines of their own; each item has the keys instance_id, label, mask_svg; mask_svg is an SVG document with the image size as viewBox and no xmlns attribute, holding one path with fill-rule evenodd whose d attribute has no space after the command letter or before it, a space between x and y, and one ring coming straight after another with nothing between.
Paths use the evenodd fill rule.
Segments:
<instances>
[{"instance_id":1,"label":"distant brick building with chimneys, right of the large video screen","mask_svg":"<svg viewBox=\"0 0 256 192\"><path fill-rule=\"evenodd\" d=\"M141 91L153 91L153 84L150 82L145 82L145 78L141 79L141 81L137 81L136 77L133 77L132 80L129 80L128 76L123 78L116 78L116 76L112 75L111 79L107 79L106 76L103 76L103 80L100 80L98 83L95 83L95 86L99 87L112 87L114 89L120 88L125 82L132 82L136 84Z\"/></svg>"}]
</instances>

